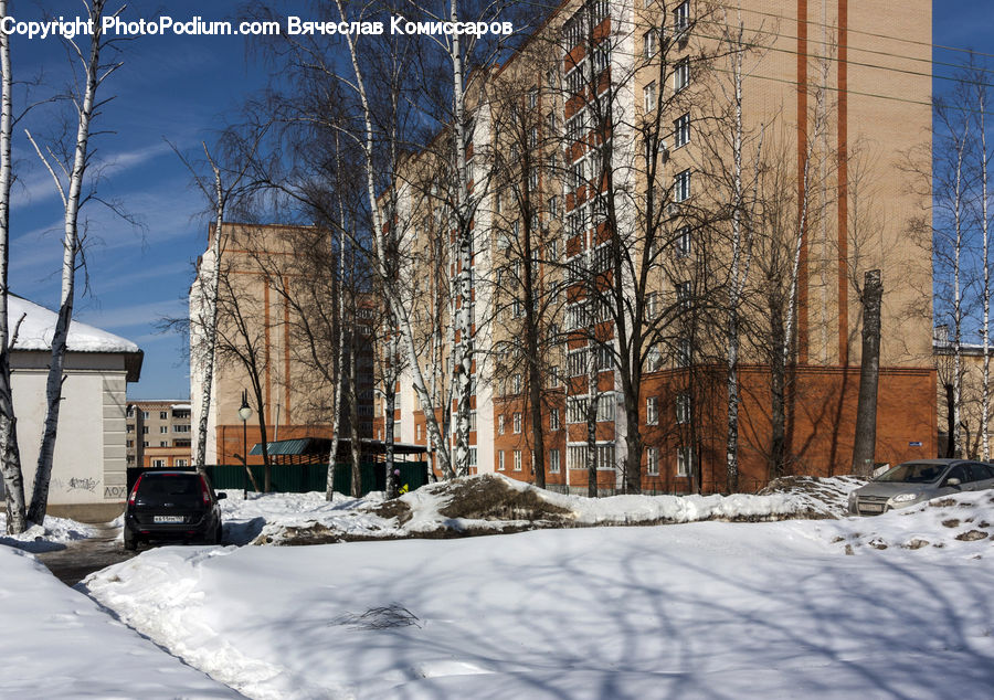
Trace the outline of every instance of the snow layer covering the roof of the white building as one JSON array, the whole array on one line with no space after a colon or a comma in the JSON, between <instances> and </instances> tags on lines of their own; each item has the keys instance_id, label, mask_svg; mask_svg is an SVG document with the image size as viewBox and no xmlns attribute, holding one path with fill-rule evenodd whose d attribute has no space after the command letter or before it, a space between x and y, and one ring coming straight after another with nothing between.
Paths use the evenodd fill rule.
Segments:
<instances>
[{"instance_id":1,"label":"snow layer covering the roof of the white building","mask_svg":"<svg viewBox=\"0 0 994 700\"><path fill-rule=\"evenodd\" d=\"M7 317L10 332L13 336L14 328L20 321L18 341L14 350L51 350L52 336L55 332L57 315L28 299L10 295L8 297ZM138 352L138 346L130 340L125 340L114 333L108 333L99 328L94 328L73 319L70 324L67 348L75 352Z\"/></svg>"}]
</instances>

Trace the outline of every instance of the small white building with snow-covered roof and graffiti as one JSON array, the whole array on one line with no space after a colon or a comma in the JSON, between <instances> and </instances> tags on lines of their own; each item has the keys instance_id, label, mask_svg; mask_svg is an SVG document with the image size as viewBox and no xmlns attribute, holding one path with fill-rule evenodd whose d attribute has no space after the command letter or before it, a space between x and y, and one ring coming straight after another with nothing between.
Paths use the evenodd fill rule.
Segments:
<instances>
[{"instance_id":1,"label":"small white building with snow-covered roof and graffiti","mask_svg":"<svg viewBox=\"0 0 994 700\"><path fill-rule=\"evenodd\" d=\"M9 298L11 385L28 500L45 418L45 381L55 312ZM21 320L23 319L23 320ZM20 326L18 326L20 324ZM110 519L127 497L126 388L137 382L142 352L134 342L73 320L65 357L49 512ZM2 487L0 487L2 488Z\"/></svg>"}]
</instances>

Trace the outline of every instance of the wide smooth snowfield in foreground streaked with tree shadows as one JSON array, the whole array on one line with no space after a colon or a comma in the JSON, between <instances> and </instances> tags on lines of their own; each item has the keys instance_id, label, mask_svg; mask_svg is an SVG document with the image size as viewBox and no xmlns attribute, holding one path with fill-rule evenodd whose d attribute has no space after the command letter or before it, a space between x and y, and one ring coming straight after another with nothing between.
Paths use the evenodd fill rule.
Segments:
<instances>
[{"instance_id":1,"label":"wide smooth snowfield in foreground streaked with tree shadows","mask_svg":"<svg viewBox=\"0 0 994 700\"><path fill-rule=\"evenodd\" d=\"M445 510L411 496L404 524L356 501L311 510L381 532ZM646 512L755 506L701 501ZM229 506L244 527L278 520ZM988 698L992 523L987 491L866 519L163 547L81 587L253 698Z\"/></svg>"}]
</instances>

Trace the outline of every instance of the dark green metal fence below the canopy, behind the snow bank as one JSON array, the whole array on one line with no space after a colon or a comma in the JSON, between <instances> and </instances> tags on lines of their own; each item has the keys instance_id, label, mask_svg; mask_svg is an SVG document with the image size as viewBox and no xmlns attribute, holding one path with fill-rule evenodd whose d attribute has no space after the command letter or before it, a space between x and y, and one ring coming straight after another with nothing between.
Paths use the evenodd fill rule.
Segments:
<instances>
[{"instance_id":1,"label":"dark green metal fence below the canopy, behind the snow bank","mask_svg":"<svg viewBox=\"0 0 994 700\"><path fill-rule=\"evenodd\" d=\"M252 476L260 488L265 482L265 467L251 465ZM387 488L385 465L382 462L360 462L360 475L362 478L362 492L382 491ZM427 484L427 463L425 462L398 462L394 465L400 470L399 485L408 486L408 490L414 490ZM240 464L220 464L207 466L208 478L215 490L244 489L254 490L252 481ZM322 464L302 465L272 465L269 467L271 487L276 494L305 494L307 491L324 491L328 481L328 466ZM339 494L350 494L352 490L352 466L350 464L335 465L335 490Z\"/></svg>"}]
</instances>

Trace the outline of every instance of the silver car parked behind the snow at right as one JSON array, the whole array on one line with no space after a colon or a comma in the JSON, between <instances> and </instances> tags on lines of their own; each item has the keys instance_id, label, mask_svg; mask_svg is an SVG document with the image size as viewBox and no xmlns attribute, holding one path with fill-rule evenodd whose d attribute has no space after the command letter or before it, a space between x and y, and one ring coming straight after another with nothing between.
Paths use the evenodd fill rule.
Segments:
<instances>
[{"instance_id":1,"label":"silver car parked behind the snow at right","mask_svg":"<svg viewBox=\"0 0 994 700\"><path fill-rule=\"evenodd\" d=\"M994 487L994 467L967 459L916 459L888 469L849 494L849 512L875 516L892 508Z\"/></svg>"}]
</instances>

